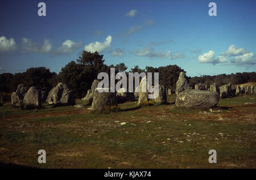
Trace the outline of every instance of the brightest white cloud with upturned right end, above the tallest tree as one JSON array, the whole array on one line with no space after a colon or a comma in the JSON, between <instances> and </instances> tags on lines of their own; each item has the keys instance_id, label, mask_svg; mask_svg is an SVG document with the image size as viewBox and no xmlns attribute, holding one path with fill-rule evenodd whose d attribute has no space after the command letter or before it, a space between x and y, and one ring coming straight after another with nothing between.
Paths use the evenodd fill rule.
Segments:
<instances>
[{"instance_id":1,"label":"brightest white cloud with upturned right end, above the tallest tree","mask_svg":"<svg viewBox=\"0 0 256 180\"><path fill-rule=\"evenodd\" d=\"M103 52L105 49L110 47L112 42L112 36L106 37L104 42L92 42L84 47L84 49L88 52Z\"/></svg>"}]
</instances>

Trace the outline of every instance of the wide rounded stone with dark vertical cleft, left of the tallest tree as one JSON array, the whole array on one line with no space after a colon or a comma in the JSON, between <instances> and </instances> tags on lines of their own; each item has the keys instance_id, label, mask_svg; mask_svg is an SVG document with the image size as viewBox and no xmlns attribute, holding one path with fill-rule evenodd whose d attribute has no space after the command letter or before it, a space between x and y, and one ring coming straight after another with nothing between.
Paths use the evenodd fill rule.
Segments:
<instances>
[{"instance_id":1,"label":"wide rounded stone with dark vertical cleft, left of the tallest tree","mask_svg":"<svg viewBox=\"0 0 256 180\"><path fill-rule=\"evenodd\" d=\"M67 84L58 83L53 87L47 96L48 104L75 105L76 99L74 92Z\"/></svg>"}]
</instances>

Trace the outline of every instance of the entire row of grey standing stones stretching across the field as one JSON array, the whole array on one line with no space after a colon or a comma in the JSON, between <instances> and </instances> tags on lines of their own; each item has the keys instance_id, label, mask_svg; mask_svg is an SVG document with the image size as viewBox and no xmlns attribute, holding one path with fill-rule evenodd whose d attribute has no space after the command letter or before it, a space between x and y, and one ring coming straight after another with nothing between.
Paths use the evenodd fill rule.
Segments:
<instances>
[{"instance_id":1,"label":"entire row of grey standing stones stretching across the field","mask_svg":"<svg viewBox=\"0 0 256 180\"><path fill-rule=\"evenodd\" d=\"M126 101L136 101L138 105L152 103L154 105L161 105L167 103L167 94L173 93L170 89L165 89L163 85L158 85L158 93L151 92L151 95L156 95L149 99L148 91L142 92L143 85L147 86L147 79L144 77L139 84L139 92L127 92L125 88L119 89L117 92L102 92L97 88L99 81L96 79L92 83L91 89L88 90L87 95L82 98L92 105L94 111L105 111L106 109L117 108L118 103ZM153 87L152 87L153 88ZM206 91L208 90L208 91ZM254 87L234 86L231 83L218 87L217 84L210 85L209 88L203 84L196 84L195 89L191 89L185 79L184 72L180 72L179 79L176 83L177 97L175 104L178 107L211 107L216 106L220 98L229 96L244 95L247 93L255 93ZM0 100L2 97L0 96ZM76 98L71 87L67 84L59 83L49 91L48 96L46 92L40 91L36 87L27 87L19 84L16 92L11 95L11 103L16 106L24 106L24 108L36 107L41 108L42 102L46 101L53 105L75 105ZM80 106L77 106L80 107ZM81 106L82 107L82 106Z\"/></svg>"}]
</instances>

